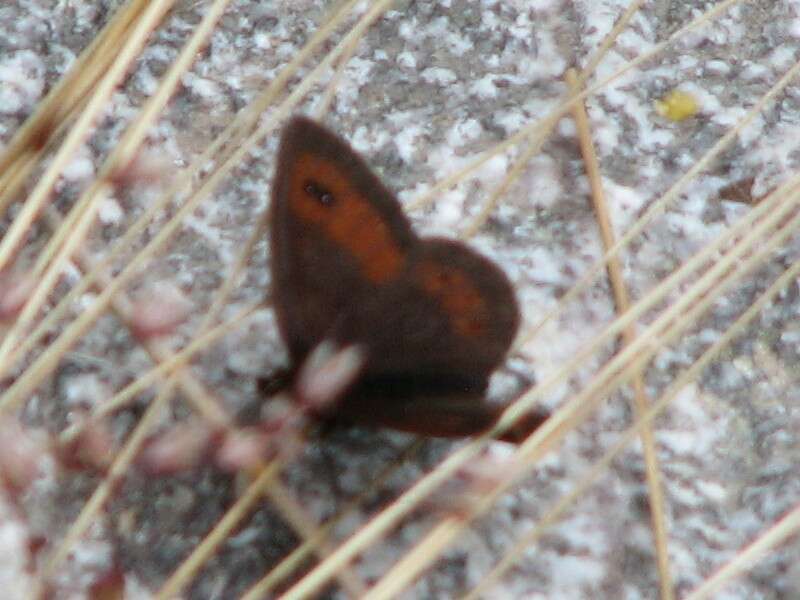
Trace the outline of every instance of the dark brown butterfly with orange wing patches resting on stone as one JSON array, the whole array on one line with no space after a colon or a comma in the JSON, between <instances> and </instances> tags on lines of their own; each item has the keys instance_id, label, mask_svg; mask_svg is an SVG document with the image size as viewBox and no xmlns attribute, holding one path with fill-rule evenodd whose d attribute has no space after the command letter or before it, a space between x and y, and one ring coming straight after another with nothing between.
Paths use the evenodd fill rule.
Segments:
<instances>
[{"instance_id":1,"label":"dark brown butterfly with orange wing patches resting on stone","mask_svg":"<svg viewBox=\"0 0 800 600\"><path fill-rule=\"evenodd\" d=\"M283 130L270 211L273 303L292 364L323 346L358 349L321 416L440 437L497 420L504 407L486 400L489 376L520 314L495 264L461 242L417 236L364 160L305 117ZM544 418L529 415L503 439Z\"/></svg>"}]
</instances>

